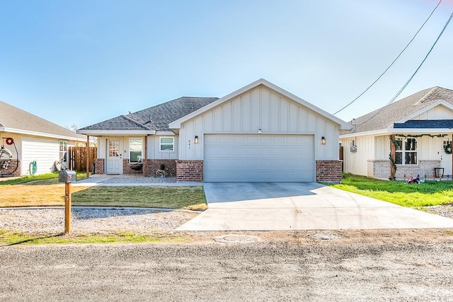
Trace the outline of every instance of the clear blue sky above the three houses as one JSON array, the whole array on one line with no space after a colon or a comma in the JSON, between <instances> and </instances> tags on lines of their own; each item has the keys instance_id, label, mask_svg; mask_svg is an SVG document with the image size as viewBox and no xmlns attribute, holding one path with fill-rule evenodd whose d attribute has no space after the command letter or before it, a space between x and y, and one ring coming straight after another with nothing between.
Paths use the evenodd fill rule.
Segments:
<instances>
[{"instance_id":1,"label":"clear blue sky above the three houses","mask_svg":"<svg viewBox=\"0 0 453 302\"><path fill-rule=\"evenodd\" d=\"M264 78L333 113L384 71L437 2L0 0L0 100L81 128ZM386 105L452 11L442 1L392 69L337 116ZM453 88L453 24L400 98L432 86Z\"/></svg>"}]
</instances>

